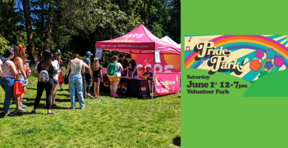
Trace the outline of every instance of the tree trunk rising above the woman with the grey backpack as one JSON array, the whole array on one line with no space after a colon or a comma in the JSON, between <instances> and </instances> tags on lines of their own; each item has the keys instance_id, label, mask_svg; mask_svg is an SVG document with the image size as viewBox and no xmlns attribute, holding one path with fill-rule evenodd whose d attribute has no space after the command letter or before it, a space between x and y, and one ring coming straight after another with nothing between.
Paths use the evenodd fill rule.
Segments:
<instances>
[{"instance_id":1,"label":"tree trunk rising above the woman with the grey backpack","mask_svg":"<svg viewBox=\"0 0 288 148\"><path fill-rule=\"evenodd\" d=\"M50 40L51 40L51 34L52 34L52 20L53 20L53 9L54 9L54 1L51 0L49 2L49 8L48 8L48 17L47 17L47 44L45 46L45 49L50 50ZM44 50L45 50L44 49Z\"/></svg>"}]
</instances>

